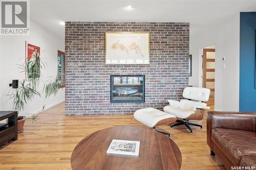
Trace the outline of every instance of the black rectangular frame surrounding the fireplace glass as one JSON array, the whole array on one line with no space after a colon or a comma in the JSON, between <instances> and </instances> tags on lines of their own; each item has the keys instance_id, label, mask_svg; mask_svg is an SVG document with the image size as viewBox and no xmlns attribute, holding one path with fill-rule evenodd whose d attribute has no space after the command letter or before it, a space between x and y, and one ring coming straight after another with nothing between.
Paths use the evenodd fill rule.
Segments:
<instances>
[{"instance_id":1,"label":"black rectangular frame surrounding the fireplace glass","mask_svg":"<svg viewBox=\"0 0 256 170\"><path fill-rule=\"evenodd\" d=\"M113 93L114 90L114 77L143 77L143 96L141 100L113 100ZM145 75L111 75L110 76L110 102L111 103L145 103Z\"/></svg>"}]
</instances>

